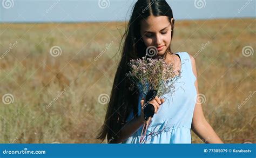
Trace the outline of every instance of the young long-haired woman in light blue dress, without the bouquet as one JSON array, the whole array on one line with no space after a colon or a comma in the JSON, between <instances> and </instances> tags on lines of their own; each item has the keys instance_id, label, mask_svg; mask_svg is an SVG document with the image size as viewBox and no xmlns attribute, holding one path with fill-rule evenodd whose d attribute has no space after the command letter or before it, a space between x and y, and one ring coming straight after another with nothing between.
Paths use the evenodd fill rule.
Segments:
<instances>
[{"instance_id":1,"label":"young long-haired woman in light blue dress, without the bouquet","mask_svg":"<svg viewBox=\"0 0 256 158\"><path fill-rule=\"evenodd\" d=\"M124 39L122 56L114 77L105 122L97 138L108 143L139 143L144 124L144 98L137 89L130 91L127 63L146 55L147 47L156 47L156 57L164 57L181 72L173 101L158 97L150 103L155 114L147 129L146 143L191 143L190 129L206 143L223 143L206 121L202 106L197 102L198 82L194 58L187 52L173 53L174 32L172 9L165 1L137 1L134 5ZM123 40L122 40L123 41ZM196 98L196 99L195 99ZM159 132L159 133L158 133Z\"/></svg>"}]
</instances>

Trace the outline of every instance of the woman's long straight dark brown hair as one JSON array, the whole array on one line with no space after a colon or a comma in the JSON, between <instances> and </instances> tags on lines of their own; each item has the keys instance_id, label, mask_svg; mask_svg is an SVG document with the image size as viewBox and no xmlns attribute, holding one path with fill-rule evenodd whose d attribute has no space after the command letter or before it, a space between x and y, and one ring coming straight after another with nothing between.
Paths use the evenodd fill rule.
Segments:
<instances>
[{"instance_id":1,"label":"woman's long straight dark brown hair","mask_svg":"<svg viewBox=\"0 0 256 158\"><path fill-rule=\"evenodd\" d=\"M120 47L122 54L114 77L110 101L107 106L105 121L102 129L97 135L97 139L102 141L107 136L107 142L113 143L119 138L120 129L125 125L125 120L131 112L138 113L138 88L129 90L130 80L126 77L126 73L130 71L127 65L131 59L142 58L146 54L146 45L140 36L140 22L149 16L167 16L171 23L171 40L173 37L174 19L172 9L166 1L161 0L139 0L133 6L131 18L126 26L124 35L122 36ZM119 50L120 50L119 47ZM172 53L171 44L166 53Z\"/></svg>"}]
</instances>

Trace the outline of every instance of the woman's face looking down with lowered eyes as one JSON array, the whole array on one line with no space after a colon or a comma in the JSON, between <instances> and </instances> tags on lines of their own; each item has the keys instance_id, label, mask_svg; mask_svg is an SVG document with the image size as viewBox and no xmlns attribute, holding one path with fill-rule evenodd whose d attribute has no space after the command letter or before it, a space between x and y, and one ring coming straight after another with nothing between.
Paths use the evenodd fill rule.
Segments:
<instances>
[{"instance_id":1,"label":"woman's face looking down with lowered eyes","mask_svg":"<svg viewBox=\"0 0 256 158\"><path fill-rule=\"evenodd\" d=\"M140 22L140 35L144 44L157 47L158 56L163 56L171 43L171 24L167 16L149 16Z\"/></svg>"}]
</instances>

